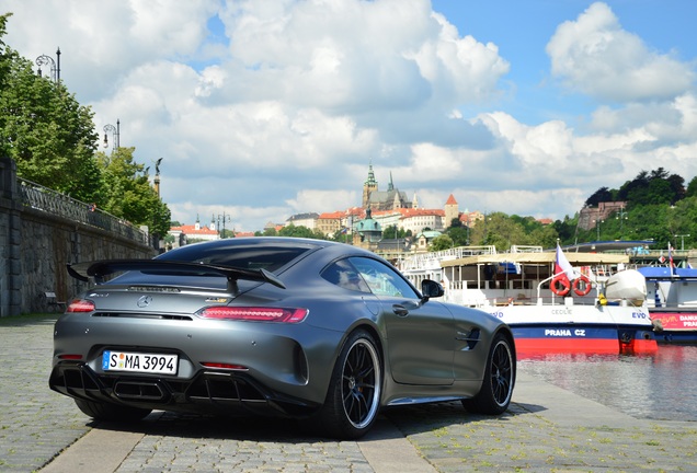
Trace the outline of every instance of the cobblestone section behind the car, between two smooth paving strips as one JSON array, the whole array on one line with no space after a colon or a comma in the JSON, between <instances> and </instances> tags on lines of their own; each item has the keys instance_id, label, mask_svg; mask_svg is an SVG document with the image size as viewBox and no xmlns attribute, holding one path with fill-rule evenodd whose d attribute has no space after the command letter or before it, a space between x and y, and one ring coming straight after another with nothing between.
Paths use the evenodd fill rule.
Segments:
<instances>
[{"instance_id":1,"label":"cobblestone section behind the car, between two smooth paving strips","mask_svg":"<svg viewBox=\"0 0 697 473\"><path fill-rule=\"evenodd\" d=\"M164 415L118 468L130 472L373 472L355 441L304 432L295 423Z\"/></svg>"}]
</instances>

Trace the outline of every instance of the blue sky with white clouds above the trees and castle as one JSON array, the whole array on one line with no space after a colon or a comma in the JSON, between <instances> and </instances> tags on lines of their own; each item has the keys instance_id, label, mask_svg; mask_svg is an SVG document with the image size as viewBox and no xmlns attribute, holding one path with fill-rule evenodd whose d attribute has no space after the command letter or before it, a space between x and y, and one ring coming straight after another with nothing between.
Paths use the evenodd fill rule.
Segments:
<instances>
[{"instance_id":1,"label":"blue sky with white clouds above the trees and castle","mask_svg":"<svg viewBox=\"0 0 697 473\"><path fill-rule=\"evenodd\" d=\"M697 1L0 0L5 43L121 122L172 218L253 231L361 205L573 216L697 175ZM44 68L45 70L46 68ZM112 137L110 136L110 140Z\"/></svg>"}]
</instances>

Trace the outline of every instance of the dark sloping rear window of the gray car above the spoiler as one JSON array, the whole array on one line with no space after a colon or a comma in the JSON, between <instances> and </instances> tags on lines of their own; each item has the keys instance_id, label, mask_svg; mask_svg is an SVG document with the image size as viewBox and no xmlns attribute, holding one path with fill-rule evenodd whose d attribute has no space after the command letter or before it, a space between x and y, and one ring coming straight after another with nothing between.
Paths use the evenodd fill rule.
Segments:
<instances>
[{"instance_id":1,"label":"dark sloping rear window of the gray car above the spoiler","mask_svg":"<svg viewBox=\"0 0 697 473\"><path fill-rule=\"evenodd\" d=\"M191 245L164 253L158 259L231 266L242 269L264 268L274 273L309 250L309 247L297 246L230 245L206 247L206 245Z\"/></svg>"}]
</instances>

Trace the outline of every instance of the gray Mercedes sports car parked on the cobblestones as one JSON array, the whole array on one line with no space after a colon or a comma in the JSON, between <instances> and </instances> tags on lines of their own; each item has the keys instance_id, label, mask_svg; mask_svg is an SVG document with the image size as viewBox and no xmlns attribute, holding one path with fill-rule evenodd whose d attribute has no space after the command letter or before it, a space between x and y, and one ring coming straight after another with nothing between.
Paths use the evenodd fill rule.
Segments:
<instances>
[{"instance_id":1,"label":"gray Mercedes sports car parked on the cobblestones","mask_svg":"<svg viewBox=\"0 0 697 473\"><path fill-rule=\"evenodd\" d=\"M348 439L381 406L511 402L507 325L355 246L229 239L68 272L92 285L56 322L49 385L95 419L273 414Z\"/></svg>"}]
</instances>

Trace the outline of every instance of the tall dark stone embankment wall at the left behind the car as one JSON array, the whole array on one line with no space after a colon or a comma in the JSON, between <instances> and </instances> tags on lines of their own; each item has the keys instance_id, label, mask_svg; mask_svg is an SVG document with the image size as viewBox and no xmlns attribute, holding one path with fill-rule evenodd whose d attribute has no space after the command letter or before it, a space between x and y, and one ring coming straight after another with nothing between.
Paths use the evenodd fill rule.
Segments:
<instances>
[{"instance_id":1,"label":"tall dark stone embankment wall at the left behind the car","mask_svg":"<svg viewBox=\"0 0 697 473\"><path fill-rule=\"evenodd\" d=\"M155 254L142 239L25 205L18 192L14 162L0 158L0 316L52 309L44 297L47 291L68 301L85 289L68 275L68 263Z\"/></svg>"}]
</instances>

